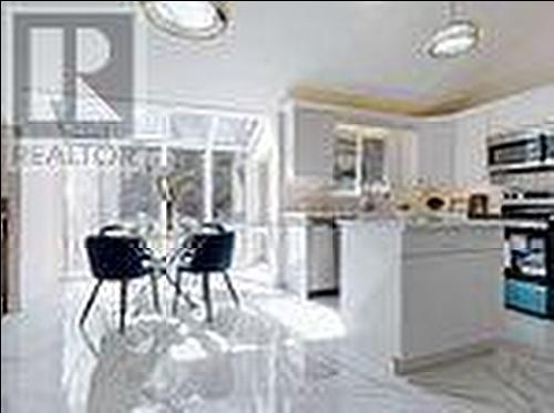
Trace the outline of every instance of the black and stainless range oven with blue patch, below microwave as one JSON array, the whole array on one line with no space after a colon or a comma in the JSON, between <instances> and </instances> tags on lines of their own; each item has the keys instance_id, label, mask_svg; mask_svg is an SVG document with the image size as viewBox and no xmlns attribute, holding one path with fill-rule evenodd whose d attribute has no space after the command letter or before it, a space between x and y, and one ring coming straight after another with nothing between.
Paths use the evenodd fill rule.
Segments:
<instances>
[{"instance_id":1,"label":"black and stainless range oven with blue patch, below microwave","mask_svg":"<svg viewBox=\"0 0 554 413\"><path fill-rule=\"evenodd\" d=\"M554 318L554 192L504 194L507 308Z\"/></svg>"}]
</instances>

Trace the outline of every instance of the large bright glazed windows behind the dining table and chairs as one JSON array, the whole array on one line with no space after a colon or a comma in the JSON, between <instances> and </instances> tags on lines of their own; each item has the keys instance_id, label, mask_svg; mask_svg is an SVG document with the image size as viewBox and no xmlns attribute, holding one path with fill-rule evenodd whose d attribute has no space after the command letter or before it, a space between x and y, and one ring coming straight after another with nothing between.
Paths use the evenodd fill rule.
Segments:
<instances>
[{"instance_id":1,"label":"large bright glazed windows behind the dining table and chairs","mask_svg":"<svg viewBox=\"0 0 554 413\"><path fill-rule=\"evenodd\" d=\"M155 236L164 233L168 215L174 228L191 218L235 225L238 256L246 256L246 166L261 121L154 106L143 107L137 116L135 134L114 144L117 151L133 152L136 165L107 169L91 165L65 172L68 271L76 275L88 269L83 237L100 227L122 223ZM165 177L172 183L172 214L164 208L161 190ZM235 264L242 265L239 259Z\"/></svg>"}]
</instances>

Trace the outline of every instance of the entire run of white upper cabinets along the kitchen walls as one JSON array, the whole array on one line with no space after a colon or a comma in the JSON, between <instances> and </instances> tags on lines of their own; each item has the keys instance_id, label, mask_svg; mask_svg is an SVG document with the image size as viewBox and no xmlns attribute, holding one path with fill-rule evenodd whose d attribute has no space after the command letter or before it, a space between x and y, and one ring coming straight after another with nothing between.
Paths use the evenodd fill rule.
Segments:
<instances>
[{"instance_id":1,"label":"entire run of white upper cabinets along the kitchen walls","mask_svg":"<svg viewBox=\"0 0 554 413\"><path fill-rule=\"evenodd\" d=\"M317 177L338 188L359 192L366 177L379 175L376 171L382 168L387 180L396 186L419 182L474 188L489 182L486 136L554 123L554 85L433 118L305 102L289 104L286 118L284 159L288 176ZM361 144L358 138L342 136L337 133L340 125L396 131L382 140L382 165L380 155L375 155L379 152L375 142Z\"/></svg>"}]
</instances>

